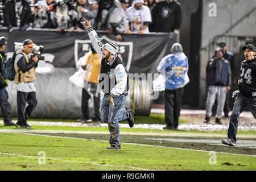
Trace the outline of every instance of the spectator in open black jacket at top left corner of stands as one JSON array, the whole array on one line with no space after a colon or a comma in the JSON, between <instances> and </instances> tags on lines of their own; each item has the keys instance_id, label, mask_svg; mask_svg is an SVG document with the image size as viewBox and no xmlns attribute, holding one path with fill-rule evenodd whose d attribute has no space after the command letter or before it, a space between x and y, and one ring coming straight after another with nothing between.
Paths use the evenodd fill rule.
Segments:
<instances>
[{"instance_id":1,"label":"spectator in open black jacket at top left corner of stands","mask_svg":"<svg viewBox=\"0 0 256 182\"><path fill-rule=\"evenodd\" d=\"M28 28L32 22L30 4L26 0L8 0L3 7L4 26L19 27L22 30Z\"/></svg>"}]
</instances>

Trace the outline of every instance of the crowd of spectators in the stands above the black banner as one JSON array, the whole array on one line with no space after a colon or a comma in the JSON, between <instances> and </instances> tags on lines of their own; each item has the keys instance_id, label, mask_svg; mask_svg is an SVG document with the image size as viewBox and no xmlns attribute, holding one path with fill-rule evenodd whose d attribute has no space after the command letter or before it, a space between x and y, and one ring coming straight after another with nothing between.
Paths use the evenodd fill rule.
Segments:
<instances>
[{"instance_id":1,"label":"crowd of spectators in the stands above the black banner","mask_svg":"<svg viewBox=\"0 0 256 182\"><path fill-rule=\"evenodd\" d=\"M86 30L80 23L90 19L95 30L122 40L121 34L174 32L179 34L182 10L176 0L7 0L3 1L3 26L29 30L57 28Z\"/></svg>"}]
</instances>

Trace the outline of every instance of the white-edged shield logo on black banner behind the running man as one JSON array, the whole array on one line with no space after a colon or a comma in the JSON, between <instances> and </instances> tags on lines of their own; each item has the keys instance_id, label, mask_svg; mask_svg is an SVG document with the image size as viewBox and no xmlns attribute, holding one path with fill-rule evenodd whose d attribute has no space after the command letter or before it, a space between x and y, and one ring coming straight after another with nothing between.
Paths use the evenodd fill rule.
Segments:
<instances>
[{"instance_id":1,"label":"white-edged shield logo on black banner behind the running man","mask_svg":"<svg viewBox=\"0 0 256 182\"><path fill-rule=\"evenodd\" d=\"M100 35L99 35L100 37ZM108 42L116 42L117 47L117 55L123 61L123 64L126 65L127 71L129 71L131 67L131 59L133 57L133 42L117 42L116 40L109 39L107 36L100 37L102 43ZM74 55L75 55L75 63L76 68L79 68L78 61L79 58L84 56L86 53L90 51L90 40L75 40L74 47Z\"/></svg>"}]
</instances>

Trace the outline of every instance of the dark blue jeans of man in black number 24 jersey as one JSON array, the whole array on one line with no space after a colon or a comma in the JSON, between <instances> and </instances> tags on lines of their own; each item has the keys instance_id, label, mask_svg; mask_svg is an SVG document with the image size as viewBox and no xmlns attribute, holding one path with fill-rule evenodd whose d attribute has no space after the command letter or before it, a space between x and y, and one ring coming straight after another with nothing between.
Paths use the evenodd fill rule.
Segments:
<instances>
[{"instance_id":1,"label":"dark blue jeans of man in black number 24 jersey","mask_svg":"<svg viewBox=\"0 0 256 182\"><path fill-rule=\"evenodd\" d=\"M234 143L237 142L237 127L238 119L240 114L243 111L243 108L247 105L250 109L251 114L256 119L256 98L243 97L241 93L237 94L236 101L234 102L234 109L230 116L229 129L228 129L228 138L231 139Z\"/></svg>"}]
</instances>

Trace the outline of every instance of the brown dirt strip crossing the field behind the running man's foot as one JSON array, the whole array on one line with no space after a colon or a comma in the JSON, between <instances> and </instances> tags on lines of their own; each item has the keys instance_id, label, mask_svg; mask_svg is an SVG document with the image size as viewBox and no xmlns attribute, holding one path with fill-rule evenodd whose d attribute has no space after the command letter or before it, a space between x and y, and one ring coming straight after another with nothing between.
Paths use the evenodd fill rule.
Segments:
<instances>
[{"instance_id":1,"label":"brown dirt strip crossing the field behind the running man's foot","mask_svg":"<svg viewBox=\"0 0 256 182\"><path fill-rule=\"evenodd\" d=\"M32 134L32 133L31 133ZM97 139L97 140L109 140L109 134L75 134L75 133L36 133L50 136L58 137L72 137L72 138L82 138L82 139ZM161 138L170 138L159 136ZM195 143L195 142L170 142L167 140L150 140L148 138L156 138L156 136L147 135L120 135L121 143L138 143L138 144L149 144L153 146L164 146L164 147L174 147L174 148L186 148L193 150L202 150L202 151L216 151L216 152L226 152L230 154L243 154L243 155L256 155L255 148L243 148L243 147L230 147L225 145L212 145L207 142L205 143ZM172 137L172 138L183 138L186 137ZM199 139L198 137L195 137ZM193 137L189 137L193 139ZM205 139L205 138L204 138ZM209 138L212 139L212 138ZM215 138L216 139L216 138ZM221 138L220 139L221 142Z\"/></svg>"}]
</instances>

